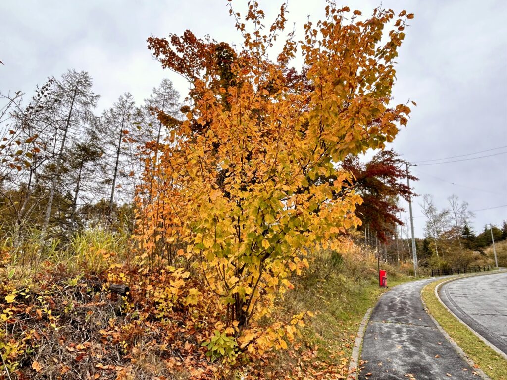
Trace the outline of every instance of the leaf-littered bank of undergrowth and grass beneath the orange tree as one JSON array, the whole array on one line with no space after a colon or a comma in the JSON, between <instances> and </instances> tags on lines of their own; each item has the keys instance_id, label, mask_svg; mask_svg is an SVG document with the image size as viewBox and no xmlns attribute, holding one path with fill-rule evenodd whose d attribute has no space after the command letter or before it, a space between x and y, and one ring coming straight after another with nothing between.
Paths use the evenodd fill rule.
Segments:
<instances>
[{"instance_id":1,"label":"leaf-littered bank of undergrowth and grass beneath the orange tree","mask_svg":"<svg viewBox=\"0 0 507 380\"><path fill-rule=\"evenodd\" d=\"M38 260L22 259L29 244L4 244L0 378L343 378L358 323L380 290L372 252L345 239L339 246L311 252L309 270L251 326L250 339L284 332L278 347L262 351L236 343L235 327L224 330L220 299L197 274L147 271L127 236L90 230ZM389 280L402 276L383 268Z\"/></svg>"}]
</instances>

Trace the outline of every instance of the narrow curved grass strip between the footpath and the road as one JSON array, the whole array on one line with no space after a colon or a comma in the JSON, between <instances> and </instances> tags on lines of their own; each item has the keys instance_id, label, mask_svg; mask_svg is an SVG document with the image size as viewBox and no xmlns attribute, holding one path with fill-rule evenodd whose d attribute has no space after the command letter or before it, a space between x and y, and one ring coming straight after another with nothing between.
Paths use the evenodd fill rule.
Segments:
<instances>
[{"instance_id":1,"label":"narrow curved grass strip between the footpath and the road","mask_svg":"<svg viewBox=\"0 0 507 380\"><path fill-rule=\"evenodd\" d=\"M422 290L422 298L429 313L442 328L454 339L456 344L493 380L507 379L507 361L475 336L465 325L450 314L437 299L434 290L438 284L446 281L434 281Z\"/></svg>"}]
</instances>

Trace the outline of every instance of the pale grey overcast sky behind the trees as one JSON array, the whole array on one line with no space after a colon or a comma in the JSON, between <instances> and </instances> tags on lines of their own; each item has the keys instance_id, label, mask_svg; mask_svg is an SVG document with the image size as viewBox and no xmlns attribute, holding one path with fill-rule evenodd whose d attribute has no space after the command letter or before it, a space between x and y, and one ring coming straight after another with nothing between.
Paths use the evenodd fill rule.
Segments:
<instances>
[{"instance_id":1,"label":"pale grey overcast sky behind the trees","mask_svg":"<svg viewBox=\"0 0 507 380\"><path fill-rule=\"evenodd\" d=\"M260 3L269 23L281 2ZM239 10L245 4L233 2ZM379 4L348 3L364 14ZM397 60L394 101L411 99L418 106L392 144L405 159L419 163L412 168L420 178L415 191L433 195L439 207L456 194L477 210L478 231L486 223L500 224L507 219L507 5L502 0L383 0L382 5L415 14ZM302 28L308 16L318 19L324 6L323 0L290 0L289 20ZM2 92L31 94L48 77L69 68L86 70L101 95L100 110L126 91L141 102L163 78L184 97L185 81L163 70L147 50L151 34L191 29L240 43L226 0L2 0L0 25ZM431 161L444 158L458 162ZM421 202L414 200L417 236L423 235Z\"/></svg>"}]
</instances>

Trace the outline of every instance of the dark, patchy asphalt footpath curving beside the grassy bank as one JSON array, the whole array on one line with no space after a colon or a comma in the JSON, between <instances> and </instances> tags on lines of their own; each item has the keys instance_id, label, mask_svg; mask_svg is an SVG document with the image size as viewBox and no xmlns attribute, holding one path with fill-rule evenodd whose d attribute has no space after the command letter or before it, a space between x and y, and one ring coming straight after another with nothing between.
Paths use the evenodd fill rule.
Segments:
<instances>
[{"instance_id":1,"label":"dark, patchy asphalt footpath curving beside the grassy bank","mask_svg":"<svg viewBox=\"0 0 507 380\"><path fill-rule=\"evenodd\" d=\"M368 362L360 379L480 379L424 311L421 289L431 281L402 284L380 298L363 341Z\"/></svg>"}]
</instances>

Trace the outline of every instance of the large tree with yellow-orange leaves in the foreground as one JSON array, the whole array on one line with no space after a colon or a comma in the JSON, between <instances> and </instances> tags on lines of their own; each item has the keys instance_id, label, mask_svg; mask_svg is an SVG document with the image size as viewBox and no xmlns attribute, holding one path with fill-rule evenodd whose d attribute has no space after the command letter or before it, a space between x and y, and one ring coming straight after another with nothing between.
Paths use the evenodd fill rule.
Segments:
<instances>
[{"instance_id":1,"label":"large tree with yellow-orange leaves in the foreground","mask_svg":"<svg viewBox=\"0 0 507 380\"><path fill-rule=\"evenodd\" d=\"M159 112L170 138L138 188L140 258L152 268L184 262L202 276L240 348L286 347L280 326L263 334L248 326L270 313L316 245L360 222L361 198L337 163L383 148L406 125L410 108L389 102L413 15L379 8L365 18L329 3L322 21L307 22L301 41L288 33L271 59L285 7L269 28L256 1L244 17L230 13L243 36L238 49L190 30L148 39L162 66L192 89L183 122ZM298 54L303 65L295 69Z\"/></svg>"}]
</instances>

